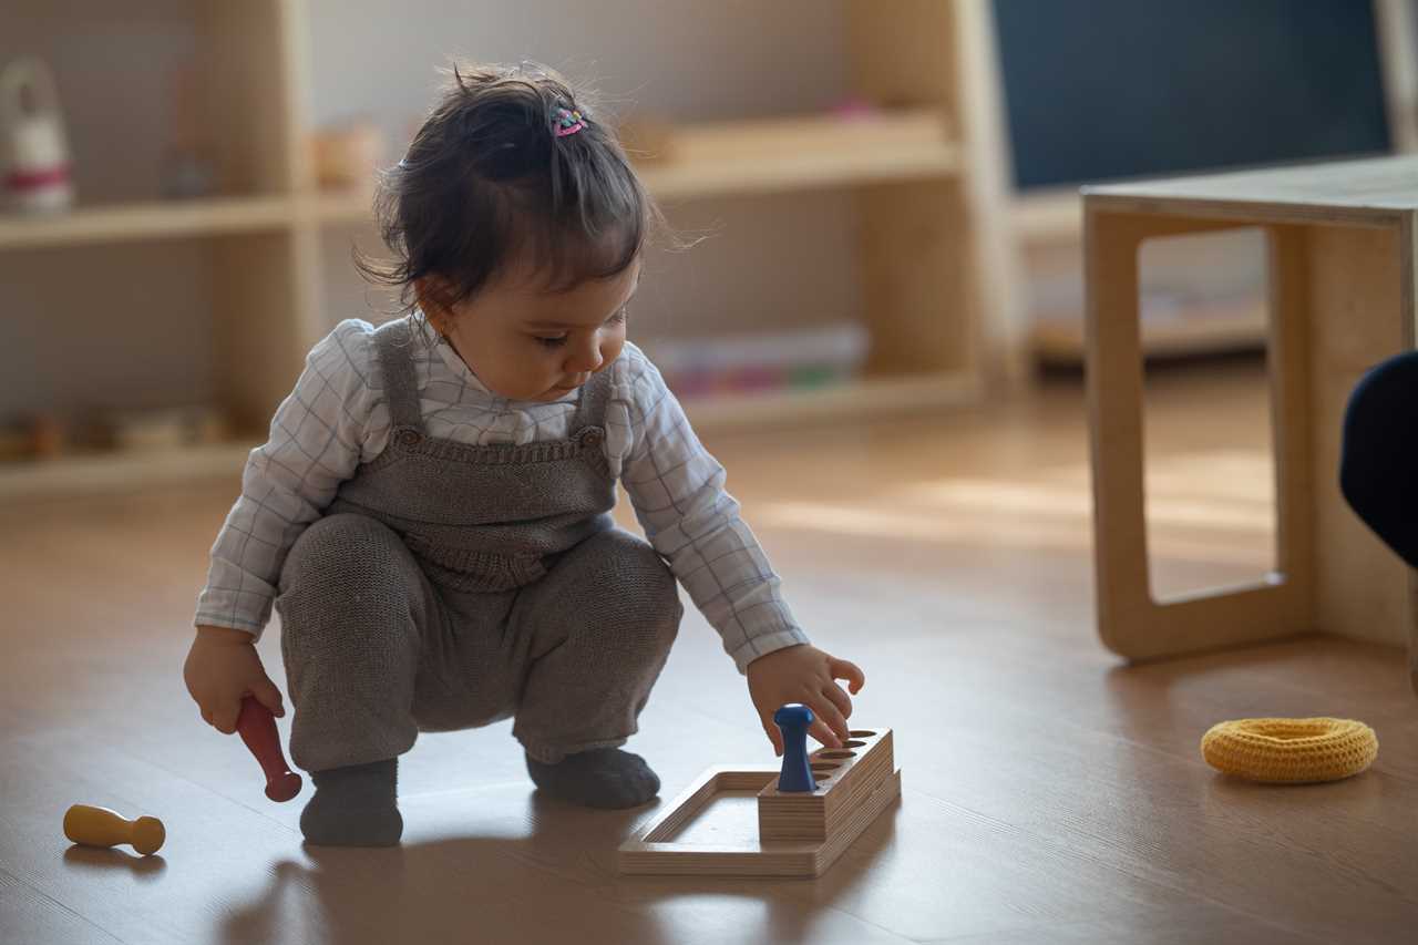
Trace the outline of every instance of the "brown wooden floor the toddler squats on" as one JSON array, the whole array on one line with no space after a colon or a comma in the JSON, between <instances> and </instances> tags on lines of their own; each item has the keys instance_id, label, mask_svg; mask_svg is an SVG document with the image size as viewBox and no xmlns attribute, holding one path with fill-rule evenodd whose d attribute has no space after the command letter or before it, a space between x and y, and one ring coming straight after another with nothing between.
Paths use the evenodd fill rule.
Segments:
<instances>
[{"instance_id":1,"label":"brown wooden floor the toddler squats on","mask_svg":"<svg viewBox=\"0 0 1418 945\"><path fill-rule=\"evenodd\" d=\"M1261 390L1254 369L1157 390L1161 590L1266 566ZM1120 665L1092 630L1076 387L710 446L814 640L866 670L854 725L895 729L902 799L824 878L620 878L615 847L654 807L543 802L506 724L404 756L401 849L303 849L301 800L262 797L180 678L227 482L0 509L0 941L1414 941L1401 654L1310 639ZM1378 763L1309 788L1214 775L1201 734L1251 715L1364 719ZM641 722L631 746L666 796L708 765L773 762L698 616ZM69 847L75 802L156 814L167 846Z\"/></svg>"}]
</instances>

